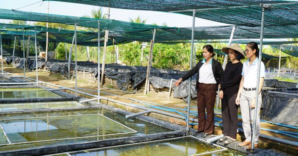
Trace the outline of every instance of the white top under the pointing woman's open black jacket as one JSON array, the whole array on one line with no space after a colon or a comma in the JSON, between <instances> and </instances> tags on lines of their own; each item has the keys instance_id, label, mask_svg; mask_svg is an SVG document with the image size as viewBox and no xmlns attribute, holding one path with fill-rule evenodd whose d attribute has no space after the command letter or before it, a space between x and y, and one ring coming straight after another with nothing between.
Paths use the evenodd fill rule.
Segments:
<instances>
[{"instance_id":1,"label":"white top under the pointing woman's open black jacket","mask_svg":"<svg viewBox=\"0 0 298 156\"><path fill-rule=\"evenodd\" d=\"M216 80L212 71L212 60L209 63L206 63L206 59L202 61L203 65L199 71L199 82L205 84L216 84Z\"/></svg>"}]
</instances>

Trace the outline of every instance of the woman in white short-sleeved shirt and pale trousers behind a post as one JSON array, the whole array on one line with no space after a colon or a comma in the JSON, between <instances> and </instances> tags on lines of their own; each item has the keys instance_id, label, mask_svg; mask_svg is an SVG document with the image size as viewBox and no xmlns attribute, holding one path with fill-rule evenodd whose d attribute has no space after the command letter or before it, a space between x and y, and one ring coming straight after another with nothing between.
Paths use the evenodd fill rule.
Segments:
<instances>
[{"instance_id":1,"label":"woman in white short-sleeved shirt and pale trousers behind a post","mask_svg":"<svg viewBox=\"0 0 298 156\"><path fill-rule=\"evenodd\" d=\"M256 96L258 96L258 110L256 118L256 135L254 149L258 148L259 135L260 135L260 108L262 103L261 90L265 77L265 66L261 62L260 71L260 83L257 84L257 72L258 72L258 56L259 48L255 42L250 42L246 45L246 57L247 61L243 63L242 78L236 98L236 104L240 104L241 116L242 116L242 127L245 135L245 140L238 144L238 146L247 146L246 150L251 150L251 139L252 129L250 127L250 121L253 121L254 108L256 104ZM259 85L258 95L256 95L256 87ZM241 95L241 96L240 96Z\"/></svg>"}]
</instances>

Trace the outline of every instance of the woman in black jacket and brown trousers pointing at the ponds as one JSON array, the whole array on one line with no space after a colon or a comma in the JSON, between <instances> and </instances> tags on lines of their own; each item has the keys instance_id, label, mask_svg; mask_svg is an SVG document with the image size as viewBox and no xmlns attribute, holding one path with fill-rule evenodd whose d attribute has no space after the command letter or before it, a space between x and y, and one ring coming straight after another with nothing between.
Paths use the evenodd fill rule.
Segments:
<instances>
[{"instance_id":1,"label":"woman in black jacket and brown trousers pointing at the ponds","mask_svg":"<svg viewBox=\"0 0 298 156\"><path fill-rule=\"evenodd\" d=\"M214 132L214 104L218 85L221 83L224 70L219 61L213 59L214 50L211 45L203 47L203 60L200 60L195 67L177 80L174 85L187 80L197 73L196 90L198 106L198 132L204 134L203 137ZM205 117L205 108L207 118Z\"/></svg>"}]
</instances>

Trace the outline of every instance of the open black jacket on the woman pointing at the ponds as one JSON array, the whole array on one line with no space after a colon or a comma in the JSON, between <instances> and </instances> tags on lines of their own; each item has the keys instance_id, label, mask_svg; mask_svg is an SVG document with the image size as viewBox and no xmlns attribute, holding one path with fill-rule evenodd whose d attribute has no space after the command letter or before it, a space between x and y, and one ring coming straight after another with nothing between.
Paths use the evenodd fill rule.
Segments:
<instances>
[{"instance_id":1,"label":"open black jacket on the woman pointing at the ponds","mask_svg":"<svg viewBox=\"0 0 298 156\"><path fill-rule=\"evenodd\" d=\"M203 61L203 59L200 60L195 67L193 67L190 71L188 71L185 75L183 75L181 77L183 79L183 81L185 81L189 77L191 77L192 75L197 73L196 91L198 90L198 86L199 86L199 71L203 65L202 61ZM223 70L222 64L215 59L212 60L211 65L212 65L212 72L213 72L214 78L215 78L215 80L217 82L217 86L218 86L222 82L222 76L224 74L224 70Z\"/></svg>"}]
</instances>

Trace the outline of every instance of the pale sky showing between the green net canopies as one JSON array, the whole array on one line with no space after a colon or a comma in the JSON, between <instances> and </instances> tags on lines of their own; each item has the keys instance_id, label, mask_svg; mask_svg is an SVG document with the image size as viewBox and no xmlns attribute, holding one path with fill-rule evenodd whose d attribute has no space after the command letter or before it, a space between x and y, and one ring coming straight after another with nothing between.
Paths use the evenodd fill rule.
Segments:
<instances>
[{"instance_id":1,"label":"pale sky showing between the green net canopies","mask_svg":"<svg viewBox=\"0 0 298 156\"><path fill-rule=\"evenodd\" d=\"M42 1L42 0L0 0L1 9L17 9L20 11L30 11L39 13L69 15L69 16L91 16L91 10L97 9L99 6L67 3L59 1ZM27 6L28 5L28 6ZM102 7L103 12L107 12L107 7ZM128 9L110 9L110 19L129 21L129 18L135 19L138 16L142 20L147 20L146 24L157 24L162 25L166 23L169 27L191 27L192 16L182 15L178 13L168 13L159 11L144 11L144 10L128 10ZM8 23L11 20L0 19L0 23ZM31 22L30 24L34 24ZM219 26L227 25L224 23L214 22L201 18L195 19L195 26Z\"/></svg>"}]
</instances>

